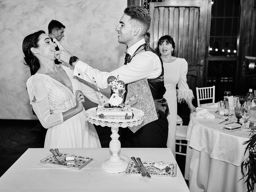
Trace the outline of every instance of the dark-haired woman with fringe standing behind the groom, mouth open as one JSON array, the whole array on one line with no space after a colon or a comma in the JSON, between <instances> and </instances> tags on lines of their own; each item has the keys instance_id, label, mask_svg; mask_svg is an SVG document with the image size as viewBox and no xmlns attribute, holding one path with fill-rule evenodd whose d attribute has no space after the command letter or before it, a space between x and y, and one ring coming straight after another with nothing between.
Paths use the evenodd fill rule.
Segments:
<instances>
[{"instance_id":1,"label":"dark-haired woman with fringe standing behind the groom, mouth open","mask_svg":"<svg viewBox=\"0 0 256 192\"><path fill-rule=\"evenodd\" d=\"M192 104L193 92L187 84L188 63L184 58L174 57L174 49L175 43L171 36L165 35L158 40L156 51L162 58L164 65L164 86L166 88L164 98L167 100L170 110L170 115L167 117L169 122L167 147L171 148L175 156L177 99L178 102L187 102L190 113L196 111L196 108ZM178 90L176 91L177 84Z\"/></svg>"}]
</instances>

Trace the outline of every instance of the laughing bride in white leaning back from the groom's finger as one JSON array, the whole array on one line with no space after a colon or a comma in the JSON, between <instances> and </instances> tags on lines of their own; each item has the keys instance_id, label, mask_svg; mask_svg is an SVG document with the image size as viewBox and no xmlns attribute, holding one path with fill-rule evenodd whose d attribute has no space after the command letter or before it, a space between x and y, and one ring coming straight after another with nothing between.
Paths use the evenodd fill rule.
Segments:
<instances>
[{"instance_id":1,"label":"laughing bride in white leaning back from the groom's finger","mask_svg":"<svg viewBox=\"0 0 256 192\"><path fill-rule=\"evenodd\" d=\"M44 148L99 148L100 140L86 119L84 94L98 102L90 87L81 90L69 64L55 64L53 43L44 31L26 36L22 43L25 65L32 76L27 80L30 104L47 129ZM100 97L98 97L100 98Z\"/></svg>"}]
</instances>

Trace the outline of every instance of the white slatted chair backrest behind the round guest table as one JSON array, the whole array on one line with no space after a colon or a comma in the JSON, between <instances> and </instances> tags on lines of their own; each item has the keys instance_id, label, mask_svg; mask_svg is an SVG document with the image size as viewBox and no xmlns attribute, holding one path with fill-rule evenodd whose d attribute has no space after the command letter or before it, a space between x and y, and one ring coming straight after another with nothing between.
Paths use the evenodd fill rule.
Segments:
<instances>
[{"instance_id":1,"label":"white slatted chair backrest behind the round guest table","mask_svg":"<svg viewBox=\"0 0 256 192\"><path fill-rule=\"evenodd\" d=\"M215 86L212 87L202 87L198 88L196 87L196 98L197 98L197 105L198 107L201 106L200 104L201 100L212 100L212 102L215 102Z\"/></svg>"}]
</instances>

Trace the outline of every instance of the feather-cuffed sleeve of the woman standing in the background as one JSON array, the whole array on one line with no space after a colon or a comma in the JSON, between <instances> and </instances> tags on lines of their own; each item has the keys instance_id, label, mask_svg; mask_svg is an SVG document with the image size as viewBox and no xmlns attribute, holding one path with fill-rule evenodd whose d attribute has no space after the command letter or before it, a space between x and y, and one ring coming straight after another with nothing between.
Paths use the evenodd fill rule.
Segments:
<instances>
[{"instance_id":1,"label":"feather-cuffed sleeve of the woman standing in the background","mask_svg":"<svg viewBox=\"0 0 256 192\"><path fill-rule=\"evenodd\" d=\"M181 63L181 74L178 82L178 90L176 90L177 100L179 103L192 101L194 98L193 91L188 87L187 84L187 73L188 73L188 63L185 59L182 59Z\"/></svg>"}]
</instances>

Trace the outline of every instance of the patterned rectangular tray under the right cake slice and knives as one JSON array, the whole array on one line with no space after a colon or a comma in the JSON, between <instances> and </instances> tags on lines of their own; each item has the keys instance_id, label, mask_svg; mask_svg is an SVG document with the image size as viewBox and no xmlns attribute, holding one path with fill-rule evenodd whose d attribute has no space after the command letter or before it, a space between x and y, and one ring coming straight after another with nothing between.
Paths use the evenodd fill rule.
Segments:
<instances>
[{"instance_id":1,"label":"patterned rectangular tray under the right cake slice and knives","mask_svg":"<svg viewBox=\"0 0 256 192\"><path fill-rule=\"evenodd\" d=\"M170 170L168 172L165 172L165 173L159 173L154 169L154 164L156 162L143 161L142 163L144 164L145 168L148 170L148 172L151 176L163 176L163 177L175 177L175 176L177 176L177 164L176 163L167 163L170 167ZM125 173L127 173L127 174L140 174L140 172L136 168L133 161L129 162Z\"/></svg>"}]
</instances>

